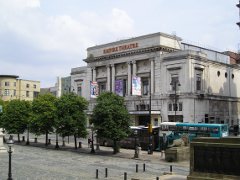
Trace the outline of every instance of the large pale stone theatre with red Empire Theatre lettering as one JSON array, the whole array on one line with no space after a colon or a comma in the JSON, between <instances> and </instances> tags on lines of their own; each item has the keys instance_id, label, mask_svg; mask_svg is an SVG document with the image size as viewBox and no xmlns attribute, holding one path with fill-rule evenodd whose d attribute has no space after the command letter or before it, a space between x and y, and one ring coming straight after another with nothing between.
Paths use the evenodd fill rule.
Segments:
<instances>
[{"instance_id":1,"label":"large pale stone theatre with red Empire Theatre lettering","mask_svg":"<svg viewBox=\"0 0 240 180\"><path fill-rule=\"evenodd\" d=\"M239 124L240 68L224 53L154 33L90 47L84 61L87 67L80 74L74 68L72 86L89 92L84 96L89 113L96 103L90 96L90 82L95 82L98 94L111 91L124 97L135 125ZM132 86L135 80L140 93Z\"/></svg>"}]
</instances>

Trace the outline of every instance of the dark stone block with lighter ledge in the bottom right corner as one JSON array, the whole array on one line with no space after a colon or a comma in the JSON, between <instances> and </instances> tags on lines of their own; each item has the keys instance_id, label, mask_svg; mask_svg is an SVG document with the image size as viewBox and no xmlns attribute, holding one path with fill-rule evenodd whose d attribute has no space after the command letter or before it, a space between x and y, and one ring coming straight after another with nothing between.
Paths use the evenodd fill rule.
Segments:
<instances>
[{"instance_id":1,"label":"dark stone block with lighter ledge in the bottom right corner","mask_svg":"<svg viewBox=\"0 0 240 180\"><path fill-rule=\"evenodd\" d=\"M239 152L239 137L193 139L187 179L240 179Z\"/></svg>"}]
</instances>

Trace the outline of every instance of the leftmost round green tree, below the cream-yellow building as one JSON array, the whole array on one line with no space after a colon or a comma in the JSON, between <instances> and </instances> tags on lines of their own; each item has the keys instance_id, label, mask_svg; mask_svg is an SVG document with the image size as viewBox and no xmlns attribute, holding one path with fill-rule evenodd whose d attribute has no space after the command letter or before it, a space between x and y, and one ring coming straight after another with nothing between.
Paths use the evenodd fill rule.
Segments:
<instances>
[{"instance_id":1,"label":"leftmost round green tree, below the cream-yellow building","mask_svg":"<svg viewBox=\"0 0 240 180\"><path fill-rule=\"evenodd\" d=\"M9 134L24 133L31 118L31 103L29 101L10 101L2 115L2 126Z\"/></svg>"}]
</instances>

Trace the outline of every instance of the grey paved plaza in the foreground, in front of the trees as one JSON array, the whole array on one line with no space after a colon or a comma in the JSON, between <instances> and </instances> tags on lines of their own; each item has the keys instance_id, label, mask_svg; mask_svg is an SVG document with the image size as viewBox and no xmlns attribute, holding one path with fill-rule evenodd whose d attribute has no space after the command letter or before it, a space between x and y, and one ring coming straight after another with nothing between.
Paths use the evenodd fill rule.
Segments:
<instances>
[{"instance_id":1,"label":"grey paved plaza in the foreground, in front of the trees","mask_svg":"<svg viewBox=\"0 0 240 180\"><path fill-rule=\"evenodd\" d=\"M43 137L44 139L44 137ZM55 150L54 144L45 148L43 139L30 146L25 142L14 145L12 156L12 176L14 180L92 180L96 179L96 169L99 171L98 179L123 180L124 173L131 180L160 179L186 179L189 174L189 163L167 163L160 157L159 152L148 155L142 151L138 159L133 159L132 149L121 149L117 155L112 154L112 148L100 147L95 154L90 154L86 141L82 148L75 150L73 143L66 142L66 147ZM8 176L8 154L0 154L0 179ZM136 172L136 164L138 172ZM143 172L143 164L146 171ZM164 175L169 172L172 165L173 175ZM107 176L105 177L105 169Z\"/></svg>"}]
</instances>

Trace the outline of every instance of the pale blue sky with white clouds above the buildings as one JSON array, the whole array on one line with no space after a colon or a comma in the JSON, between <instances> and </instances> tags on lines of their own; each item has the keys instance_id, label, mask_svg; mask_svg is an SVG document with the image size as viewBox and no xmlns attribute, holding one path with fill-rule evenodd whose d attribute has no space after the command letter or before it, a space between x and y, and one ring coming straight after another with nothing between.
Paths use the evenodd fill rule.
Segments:
<instances>
[{"instance_id":1,"label":"pale blue sky with white clouds above the buildings","mask_svg":"<svg viewBox=\"0 0 240 180\"><path fill-rule=\"evenodd\" d=\"M86 49L156 32L240 49L238 0L0 0L0 74L51 87Z\"/></svg>"}]
</instances>

